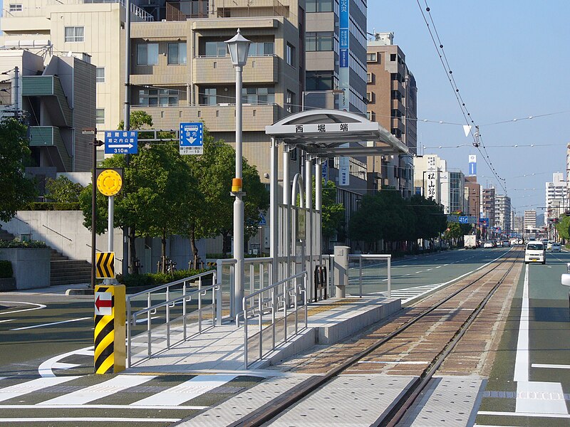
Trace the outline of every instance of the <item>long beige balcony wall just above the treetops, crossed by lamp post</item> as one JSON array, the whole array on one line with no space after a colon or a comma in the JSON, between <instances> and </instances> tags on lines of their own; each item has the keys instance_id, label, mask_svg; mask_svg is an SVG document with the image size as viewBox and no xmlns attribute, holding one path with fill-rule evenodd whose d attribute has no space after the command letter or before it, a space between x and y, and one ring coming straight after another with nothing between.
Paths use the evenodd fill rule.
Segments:
<instances>
[{"instance_id":1,"label":"long beige balcony wall just above the treetops, crossed by lamp post","mask_svg":"<svg viewBox=\"0 0 570 427\"><path fill-rule=\"evenodd\" d=\"M235 105L178 105L174 107L139 107L133 109L147 112L152 116L155 129L178 129L180 123L203 121L209 132L235 132ZM276 104L248 105L244 104L244 132L265 132L265 127L279 120L281 107Z\"/></svg>"}]
</instances>

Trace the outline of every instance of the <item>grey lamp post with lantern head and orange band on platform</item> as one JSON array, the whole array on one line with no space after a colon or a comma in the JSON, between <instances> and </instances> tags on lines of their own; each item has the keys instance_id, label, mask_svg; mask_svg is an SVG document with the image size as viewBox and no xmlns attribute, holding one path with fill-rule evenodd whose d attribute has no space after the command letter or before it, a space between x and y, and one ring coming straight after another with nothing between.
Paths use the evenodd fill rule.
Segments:
<instances>
[{"instance_id":1,"label":"grey lamp post with lantern head and orange band on platform","mask_svg":"<svg viewBox=\"0 0 570 427\"><path fill-rule=\"evenodd\" d=\"M234 259L236 273L234 274L234 312L237 315L244 297L244 192L242 191L242 68L247 63L249 44L237 29L237 34L225 41L236 68L236 177L232 179L232 195L234 201Z\"/></svg>"}]
</instances>

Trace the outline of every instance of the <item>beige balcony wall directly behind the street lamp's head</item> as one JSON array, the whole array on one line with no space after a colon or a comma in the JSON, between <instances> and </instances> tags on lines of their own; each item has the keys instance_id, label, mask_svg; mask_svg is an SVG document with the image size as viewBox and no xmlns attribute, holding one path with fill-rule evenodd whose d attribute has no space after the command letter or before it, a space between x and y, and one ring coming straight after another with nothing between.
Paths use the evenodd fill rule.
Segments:
<instances>
[{"instance_id":1,"label":"beige balcony wall directly behind the street lamp's head","mask_svg":"<svg viewBox=\"0 0 570 427\"><path fill-rule=\"evenodd\" d=\"M236 72L229 56L194 58L194 83L196 85L219 85L234 83ZM243 70L243 82L277 83L279 58L277 56L252 56Z\"/></svg>"}]
</instances>

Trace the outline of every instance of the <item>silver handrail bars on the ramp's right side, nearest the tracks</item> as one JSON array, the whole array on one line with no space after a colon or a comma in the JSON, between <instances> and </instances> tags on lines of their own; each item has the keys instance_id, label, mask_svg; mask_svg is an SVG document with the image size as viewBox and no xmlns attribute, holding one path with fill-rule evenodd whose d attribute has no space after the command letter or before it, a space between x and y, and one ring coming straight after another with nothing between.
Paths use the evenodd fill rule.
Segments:
<instances>
[{"instance_id":1,"label":"silver handrail bars on the ramp's right side, nearest the tracks","mask_svg":"<svg viewBox=\"0 0 570 427\"><path fill-rule=\"evenodd\" d=\"M299 278L303 278L303 283L301 285L297 285L297 280ZM288 286L291 281L294 283L293 286ZM279 282L274 283L273 285L257 290L250 295L247 295L242 300L242 308L243 311L236 315L236 324L239 324L239 317L243 317L244 319L244 367L247 369L250 365L249 362L249 352L248 352L248 341L249 341L249 329L248 329L248 319L251 317L258 318L258 327L259 331L257 332L259 336L259 354L256 357L256 360L261 360L263 357L274 350L276 345L280 344L281 342L287 342L288 337L288 319L289 315L295 316L295 330L293 336L299 334L301 330L306 329L308 327L307 323L307 294L306 294L306 286L307 286L307 272L306 270L302 271L301 273L297 273L295 275L291 275L289 278L284 280L280 280ZM279 290L279 288L282 288ZM302 297L301 305L299 306L299 297ZM257 302L256 302L257 299ZM248 307L248 300L253 302L252 307ZM292 300L292 301L291 301ZM292 302L292 304L291 304ZM292 308L291 312L288 312L289 308ZM304 310L304 327L299 327L299 310ZM279 311L283 312L283 317L277 317L276 313ZM251 312L251 315L249 313ZM264 321L264 312L269 312L271 315L271 322L269 325L266 325L264 328L263 321ZM284 334L283 339L278 340L276 339L276 322L279 320L283 320L284 322ZM271 333L271 349L267 349L264 351L263 346L263 339L264 339L264 330L270 330Z\"/></svg>"}]
</instances>

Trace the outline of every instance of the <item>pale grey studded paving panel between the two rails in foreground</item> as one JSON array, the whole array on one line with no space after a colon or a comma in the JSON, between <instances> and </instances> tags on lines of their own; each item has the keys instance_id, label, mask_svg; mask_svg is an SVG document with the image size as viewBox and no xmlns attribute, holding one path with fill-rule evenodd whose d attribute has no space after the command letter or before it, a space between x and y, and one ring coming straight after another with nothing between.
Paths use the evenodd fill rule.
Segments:
<instances>
[{"instance_id":1,"label":"pale grey studded paving panel between the two rails in foreground","mask_svg":"<svg viewBox=\"0 0 570 427\"><path fill-rule=\"evenodd\" d=\"M269 426L370 426L412 380L411 376L342 375Z\"/></svg>"}]
</instances>

